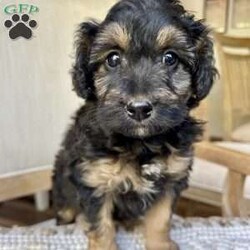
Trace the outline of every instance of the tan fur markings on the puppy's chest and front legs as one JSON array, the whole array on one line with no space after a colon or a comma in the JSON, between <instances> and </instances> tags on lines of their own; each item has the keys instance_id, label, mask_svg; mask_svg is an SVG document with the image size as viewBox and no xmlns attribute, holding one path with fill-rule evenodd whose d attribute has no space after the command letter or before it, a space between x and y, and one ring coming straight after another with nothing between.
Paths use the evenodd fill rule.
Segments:
<instances>
[{"instance_id":1,"label":"tan fur markings on the puppy's chest and front legs","mask_svg":"<svg viewBox=\"0 0 250 250\"><path fill-rule=\"evenodd\" d=\"M116 250L115 224L112 221L112 210L116 198L115 191L127 192L131 188L137 192L153 193L150 181L144 175L168 174L180 179L188 173L191 157L180 157L178 151L170 147L172 154L168 158L154 158L151 163L141 166L138 175L136 161L132 155L124 154L120 158L103 158L96 161L85 161L79 167L83 171L84 182L96 189L94 195L105 195L104 204L99 212L98 228L88 232L90 250ZM120 190L119 188L123 188ZM141 224L146 239L147 250L176 250L178 247L169 238L169 226L173 198L168 196L157 201L150 208ZM85 221L85 220L84 220ZM139 221L137 221L138 223ZM136 224L136 223L135 223ZM84 224L84 227L88 227ZM125 225L132 227L134 225ZM137 225L138 226L138 225ZM86 230L86 229L85 229Z\"/></svg>"}]
</instances>

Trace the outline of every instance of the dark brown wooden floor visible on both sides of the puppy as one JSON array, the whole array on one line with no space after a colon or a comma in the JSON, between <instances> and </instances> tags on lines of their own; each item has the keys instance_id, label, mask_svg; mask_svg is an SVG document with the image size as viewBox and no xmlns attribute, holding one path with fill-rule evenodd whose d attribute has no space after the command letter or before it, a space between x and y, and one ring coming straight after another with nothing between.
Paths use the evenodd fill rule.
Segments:
<instances>
[{"instance_id":1,"label":"dark brown wooden floor visible on both sides of the puppy","mask_svg":"<svg viewBox=\"0 0 250 250\"><path fill-rule=\"evenodd\" d=\"M190 216L220 216L220 209L182 198L177 204L176 213L183 217ZM33 225L53 218L53 211L38 212L32 197L12 200L0 204L0 226Z\"/></svg>"}]
</instances>

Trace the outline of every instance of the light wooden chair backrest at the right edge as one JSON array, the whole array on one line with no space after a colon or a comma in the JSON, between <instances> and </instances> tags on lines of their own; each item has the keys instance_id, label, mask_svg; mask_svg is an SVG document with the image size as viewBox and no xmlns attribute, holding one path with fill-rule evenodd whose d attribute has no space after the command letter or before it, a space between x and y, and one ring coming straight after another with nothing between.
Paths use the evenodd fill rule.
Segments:
<instances>
[{"instance_id":1,"label":"light wooden chair backrest at the right edge","mask_svg":"<svg viewBox=\"0 0 250 250\"><path fill-rule=\"evenodd\" d=\"M250 38L214 36L224 83L225 138L250 142Z\"/></svg>"}]
</instances>

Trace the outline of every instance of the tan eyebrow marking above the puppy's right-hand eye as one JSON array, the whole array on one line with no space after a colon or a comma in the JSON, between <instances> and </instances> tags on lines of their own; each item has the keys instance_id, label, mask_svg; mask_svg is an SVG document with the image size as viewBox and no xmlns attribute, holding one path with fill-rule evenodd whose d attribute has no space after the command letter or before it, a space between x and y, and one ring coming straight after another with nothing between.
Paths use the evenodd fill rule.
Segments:
<instances>
[{"instance_id":1,"label":"tan eyebrow marking above the puppy's right-hand eye","mask_svg":"<svg viewBox=\"0 0 250 250\"><path fill-rule=\"evenodd\" d=\"M165 26L158 32L156 43L158 49L163 49L168 45L173 45L175 42L185 43L185 35L174 26Z\"/></svg>"}]
</instances>

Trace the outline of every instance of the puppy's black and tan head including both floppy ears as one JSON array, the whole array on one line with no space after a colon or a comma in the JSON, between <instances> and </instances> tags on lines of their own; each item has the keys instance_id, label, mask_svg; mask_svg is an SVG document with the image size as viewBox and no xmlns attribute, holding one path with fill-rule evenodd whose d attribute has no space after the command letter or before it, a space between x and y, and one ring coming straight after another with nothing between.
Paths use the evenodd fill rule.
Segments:
<instances>
[{"instance_id":1,"label":"puppy's black and tan head including both floppy ears","mask_svg":"<svg viewBox=\"0 0 250 250\"><path fill-rule=\"evenodd\" d=\"M177 0L123 0L78 31L74 88L112 133L147 137L180 124L215 74L207 28Z\"/></svg>"}]
</instances>

